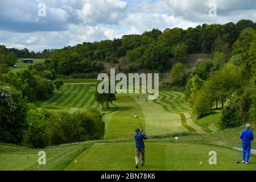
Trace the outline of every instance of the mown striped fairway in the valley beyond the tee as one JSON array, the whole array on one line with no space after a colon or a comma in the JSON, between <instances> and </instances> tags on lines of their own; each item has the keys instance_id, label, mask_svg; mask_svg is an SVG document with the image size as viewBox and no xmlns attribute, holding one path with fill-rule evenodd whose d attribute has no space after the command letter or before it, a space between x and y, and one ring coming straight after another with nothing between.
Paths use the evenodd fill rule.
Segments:
<instances>
[{"instance_id":1,"label":"mown striped fairway in the valley beyond the tee","mask_svg":"<svg viewBox=\"0 0 256 182\"><path fill-rule=\"evenodd\" d=\"M95 80L65 80L63 87L55 91L51 100L38 101L36 106L46 107L49 110L102 111L101 105L94 98L96 85L92 83L93 81ZM117 94L117 97L119 100L110 104L109 111L102 111L106 113L105 139L127 138L133 135L134 129L140 127L134 115L139 116L148 135L195 132L200 128L191 121L188 113L191 109L184 101L182 93L160 92L158 101L148 102L146 102L146 94Z\"/></svg>"}]
</instances>

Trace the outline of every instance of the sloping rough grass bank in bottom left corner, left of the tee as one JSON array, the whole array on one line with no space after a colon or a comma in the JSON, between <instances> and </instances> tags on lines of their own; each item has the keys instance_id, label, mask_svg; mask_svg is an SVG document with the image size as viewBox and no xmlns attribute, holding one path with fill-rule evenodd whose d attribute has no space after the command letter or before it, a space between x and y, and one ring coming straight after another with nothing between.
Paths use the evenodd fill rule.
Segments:
<instances>
[{"instance_id":1,"label":"sloping rough grass bank in bottom left corner, left of the tee","mask_svg":"<svg viewBox=\"0 0 256 182\"><path fill-rule=\"evenodd\" d=\"M46 165L38 165L40 149L30 149L0 144L0 171L22 170L63 170L77 155L92 146L93 143L69 144L44 148Z\"/></svg>"}]
</instances>

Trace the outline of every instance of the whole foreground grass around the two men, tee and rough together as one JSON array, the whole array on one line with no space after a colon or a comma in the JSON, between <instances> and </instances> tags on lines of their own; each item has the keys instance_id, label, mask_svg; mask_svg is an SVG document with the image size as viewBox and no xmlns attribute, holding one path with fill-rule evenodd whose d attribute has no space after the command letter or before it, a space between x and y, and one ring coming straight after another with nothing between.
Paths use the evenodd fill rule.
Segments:
<instances>
[{"instance_id":1,"label":"whole foreground grass around the two men, tee and rough together","mask_svg":"<svg viewBox=\"0 0 256 182\"><path fill-rule=\"evenodd\" d=\"M180 135L178 142L174 137L151 137L145 142L146 166L139 170L255 170L255 155L251 155L249 165L236 164L238 151L229 148L239 147L242 129L237 127L213 134L188 133ZM253 141L252 145L255 144ZM39 149L0 144L0 170L135 170L134 148L131 137L47 147L43 149L47 165L39 166ZM208 164L209 151L217 152L217 165ZM199 166L199 162L203 162L203 166Z\"/></svg>"}]
</instances>

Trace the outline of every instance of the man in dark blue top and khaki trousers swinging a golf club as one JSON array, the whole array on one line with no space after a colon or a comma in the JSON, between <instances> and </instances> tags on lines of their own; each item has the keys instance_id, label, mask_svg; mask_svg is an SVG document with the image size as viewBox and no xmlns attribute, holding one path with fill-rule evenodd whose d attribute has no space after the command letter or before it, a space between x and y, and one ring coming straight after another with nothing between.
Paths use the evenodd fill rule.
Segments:
<instances>
[{"instance_id":1,"label":"man in dark blue top and khaki trousers swinging a golf club","mask_svg":"<svg viewBox=\"0 0 256 182\"><path fill-rule=\"evenodd\" d=\"M139 168L139 156L141 155L142 158L142 163L141 166L144 166L145 163L145 145L144 145L144 140L147 139L144 130L142 130L142 133L139 132L139 129L135 130L135 143L136 143L136 148L135 148L135 162L136 162L136 168Z\"/></svg>"}]
</instances>

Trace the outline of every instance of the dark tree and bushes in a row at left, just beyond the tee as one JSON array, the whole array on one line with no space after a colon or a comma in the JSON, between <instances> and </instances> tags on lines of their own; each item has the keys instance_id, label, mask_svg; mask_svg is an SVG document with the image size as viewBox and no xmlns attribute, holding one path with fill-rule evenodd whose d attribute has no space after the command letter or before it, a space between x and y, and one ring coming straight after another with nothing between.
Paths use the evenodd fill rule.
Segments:
<instances>
[{"instance_id":1,"label":"dark tree and bushes in a row at left, just beyond the tee","mask_svg":"<svg viewBox=\"0 0 256 182\"><path fill-rule=\"evenodd\" d=\"M102 139L105 123L95 110L51 112L28 103L14 86L0 82L0 142L44 148Z\"/></svg>"}]
</instances>

